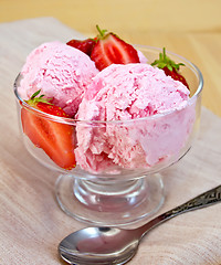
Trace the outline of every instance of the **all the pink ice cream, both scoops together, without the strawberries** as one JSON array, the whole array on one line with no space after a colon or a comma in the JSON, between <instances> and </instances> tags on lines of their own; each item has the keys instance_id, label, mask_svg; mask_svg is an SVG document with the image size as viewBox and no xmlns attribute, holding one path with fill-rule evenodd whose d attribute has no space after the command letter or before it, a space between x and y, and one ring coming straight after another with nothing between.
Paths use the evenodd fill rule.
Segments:
<instances>
[{"instance_id":1,"label":"all the pink ice cream, both scoops together, without the strawberries","mask_svg":"<svg viewBox=\"0 0 221 265\"><path fill-rule=\"evenodd\" d=\"M72 142L84 170L151 168L178 158L188 140L194 123L189 89L137 53L140 63L98 71L84 52L49 42L28 56L21 71L22 99L41 89L70 117L84 120L76 123Z\"/></svg>"}]
</instances>

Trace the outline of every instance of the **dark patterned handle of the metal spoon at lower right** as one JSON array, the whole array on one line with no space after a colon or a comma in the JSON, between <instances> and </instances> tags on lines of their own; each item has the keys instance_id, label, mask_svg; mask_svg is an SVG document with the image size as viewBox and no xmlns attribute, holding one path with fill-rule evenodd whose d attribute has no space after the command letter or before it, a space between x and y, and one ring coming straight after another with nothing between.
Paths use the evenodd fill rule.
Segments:
<instances>
[{"instance_id":1,"label":"dark patterned handle of the metal spoon at lower right","mask_svg":"<svg viewBox=\"0 0 221 265\"><path fill-rule=\"evenodd\" d=\"M155 227L156 225L158 225L169 219L172 219L185 212L210 206L220 201L221 201L221 186L218 186L217 188L206 191L204 193L189 200L188 202L186 202L177 208L173 208L172 210L169 210L168 212L160 214L159 216L152 219L150 222L143 225L138 230L139 230L141 236L144 236L150 229Z\"/></svg>"}]
</instances>

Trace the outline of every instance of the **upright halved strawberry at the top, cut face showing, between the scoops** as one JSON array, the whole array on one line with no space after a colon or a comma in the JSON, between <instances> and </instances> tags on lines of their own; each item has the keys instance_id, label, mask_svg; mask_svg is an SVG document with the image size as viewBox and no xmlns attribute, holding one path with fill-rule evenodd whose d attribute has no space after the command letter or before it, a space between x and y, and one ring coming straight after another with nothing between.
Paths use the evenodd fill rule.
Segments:
<instances>
[{"instance_id":1,"label":"upright halved strawberry at the top, cut face showing, between the scoops","mask_svg":"<svg viewBox=\"0 0 221 265\"><path fill-rule=\"evenodd\" d=\"M91 59L95 62L96 67L102 71L108 65L139 63L137 51L128 43L120 40L114 33L106 33L97 26L99 35L97 35Z\"/></svg>"}]
</instances>

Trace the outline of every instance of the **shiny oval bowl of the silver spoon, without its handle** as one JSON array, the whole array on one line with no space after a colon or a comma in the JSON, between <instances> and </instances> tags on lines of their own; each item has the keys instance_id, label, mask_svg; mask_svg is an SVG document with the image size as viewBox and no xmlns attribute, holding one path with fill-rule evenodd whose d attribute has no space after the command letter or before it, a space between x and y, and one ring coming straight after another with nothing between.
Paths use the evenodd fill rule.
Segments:
<instances>
[{"instance_id":1,"label":"shiny oval bowl of the silver spoon, without its handle","mask_svg":"<svg viewBox=\"0 0 221 265\"><path fill-rule=\"evenodd\" d=\"M117 227L83 229L62 241L60 254L70 264L124 264L139 244L139 236L128 232Z\"/></svg>"}]
</instances>

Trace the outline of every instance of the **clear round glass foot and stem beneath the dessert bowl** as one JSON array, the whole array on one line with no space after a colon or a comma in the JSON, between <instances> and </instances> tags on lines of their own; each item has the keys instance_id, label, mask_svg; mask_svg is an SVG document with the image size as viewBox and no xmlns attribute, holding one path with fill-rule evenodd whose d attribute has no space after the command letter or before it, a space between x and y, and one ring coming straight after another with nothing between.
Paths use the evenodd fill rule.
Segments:
<instances>
[{"instance_id":1,"label":"clear round glass foot and stem beneath the dessert bowl","mask_svg":"<svg viewBox=\"0 0 221 265\"><path fill-rule=\"evenodd\" d=\"M70 216L93 225L134 224L155 214L165 201L160 174L136 180L96 182L61 174L56 200Z\"/></svg>"}]
</instances>

